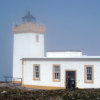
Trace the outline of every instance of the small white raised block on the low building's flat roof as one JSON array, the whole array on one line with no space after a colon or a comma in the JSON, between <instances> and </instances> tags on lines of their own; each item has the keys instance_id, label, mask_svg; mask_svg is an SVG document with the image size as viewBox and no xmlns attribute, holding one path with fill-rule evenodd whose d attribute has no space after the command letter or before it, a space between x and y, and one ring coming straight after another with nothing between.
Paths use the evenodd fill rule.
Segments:
<instances>
[{"instance_id":1,"label":"small white raised block on the low building's flat roof","mask_svg":"<svg viewBox=\"0 0 100 100\"><path fill-rule=\"evenodd\" d=\"M64 51L64 52L46 52L46 57L79 57L82 52Z\"/></svg>"}]
</instances>

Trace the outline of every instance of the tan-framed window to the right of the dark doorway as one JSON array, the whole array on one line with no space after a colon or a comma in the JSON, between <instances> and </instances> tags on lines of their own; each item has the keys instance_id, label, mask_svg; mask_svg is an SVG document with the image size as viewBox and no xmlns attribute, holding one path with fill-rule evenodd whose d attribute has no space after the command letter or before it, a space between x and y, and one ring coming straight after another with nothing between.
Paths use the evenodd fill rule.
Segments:
<instances>
[{"instance_id":1,"label":"tan-framed window to the right of the dark doorway","mask_svg":"<svg viewBox=\"0 0 100 100\"><path fill-rule=\"evenodd\" d=\"M85 65L85 83L93 83L93 65Z\"/></svg>"}]
</instances>

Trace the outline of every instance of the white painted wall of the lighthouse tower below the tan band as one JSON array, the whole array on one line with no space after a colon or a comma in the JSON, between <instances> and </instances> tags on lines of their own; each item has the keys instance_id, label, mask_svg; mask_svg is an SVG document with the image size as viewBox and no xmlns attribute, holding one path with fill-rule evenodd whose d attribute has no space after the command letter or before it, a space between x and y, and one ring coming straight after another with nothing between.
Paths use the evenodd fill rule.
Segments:
<instances>
[{"instance_id":1,"label":"white painted wall of the lighthouse tower below the tan band","mask_svg":"<svg viewBox=\"0 0 100 100\"><path fill-rule=\"evenodd\" d=\"M44 57L44 34L37 33L14 34L13 77L22 78L22 58Z\"/></svg>"}]
</instances>

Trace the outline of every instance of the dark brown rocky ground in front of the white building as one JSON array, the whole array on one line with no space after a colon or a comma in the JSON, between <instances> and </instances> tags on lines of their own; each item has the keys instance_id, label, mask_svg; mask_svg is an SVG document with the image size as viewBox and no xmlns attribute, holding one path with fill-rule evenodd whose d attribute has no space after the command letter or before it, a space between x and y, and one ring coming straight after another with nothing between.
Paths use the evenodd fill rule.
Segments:
<instances>
[{"instance_id":1,"label":"dark brown rocky ground in front of the white building","mask_svg":"<svg viewBox=\"0 0 100 100\"><path fill-rule=\"evenodd\" d=\"M2 84L0 100L100 100L100 89L35 90Z\"/></svg>"}]
</instances>

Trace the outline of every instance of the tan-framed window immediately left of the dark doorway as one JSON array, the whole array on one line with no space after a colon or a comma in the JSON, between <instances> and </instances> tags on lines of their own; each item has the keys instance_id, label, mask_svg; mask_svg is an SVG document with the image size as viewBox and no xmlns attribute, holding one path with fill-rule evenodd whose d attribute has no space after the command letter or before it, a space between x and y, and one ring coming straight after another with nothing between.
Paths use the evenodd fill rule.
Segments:
<instances>
[{"instance_id":1,"label":"tan-framed window immediately left of the dark doorway","mask_svg":"<svg viewBox=\"0 0 100 100\"><path fill-rule=\"evenodd\" d=\"M53 81L60 81L60 65L53 65Z\"/></svg>"}]
</instances>

